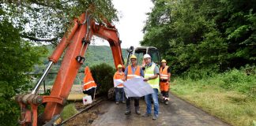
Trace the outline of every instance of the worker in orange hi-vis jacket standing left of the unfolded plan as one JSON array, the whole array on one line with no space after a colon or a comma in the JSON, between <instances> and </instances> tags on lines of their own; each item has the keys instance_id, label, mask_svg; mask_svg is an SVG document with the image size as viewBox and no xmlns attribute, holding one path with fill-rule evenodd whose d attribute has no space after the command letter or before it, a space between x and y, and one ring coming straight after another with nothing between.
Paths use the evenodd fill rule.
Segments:
<instances>
[{"instance_id":1,"label":"worker in orange hi-vis jacket standing left of the unfolded plan","mask_svg":"<svg viewBox=\"0 0 256 126\"><path fill-rule=\"evenodd\" d=\"M125 77L124 72L122 72L122 65L118 65L118 71L115 72L115 75L113 77L114 80L123 80ZM115 83L115 81L114 81ZM123 90L123 84L120 83L119 85L115 86L115 103L118 105L119 102L126 103L124 102L124 90Z\"/></svg>"}]
</instances>

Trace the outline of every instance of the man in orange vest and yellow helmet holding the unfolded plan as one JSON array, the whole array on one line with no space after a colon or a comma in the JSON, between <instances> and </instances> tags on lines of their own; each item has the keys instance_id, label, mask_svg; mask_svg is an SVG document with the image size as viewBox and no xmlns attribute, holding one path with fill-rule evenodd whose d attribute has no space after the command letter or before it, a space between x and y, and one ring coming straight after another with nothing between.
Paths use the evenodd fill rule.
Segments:
<instances>
[{"instance_id":1,"label":"man in orange vest and yellow helmet holding the unfolded plan","mask_svg":"<svg viewBox=\"0 0 256 126\"><path fill-rule=\"evenodd\" d=\"M137 65L137 57L132 55L130 57L131 65L128 65L125 70L125 78L124 80L130 80L134 77L144 76L144 72L141 69L140 65ZM138 115L141 114L140 112L140 102L138 97L134 97L134 106L135 106L135 113ZM126 98L126 115L130 115L130 98Z\"/></svg>"}]
</instances>

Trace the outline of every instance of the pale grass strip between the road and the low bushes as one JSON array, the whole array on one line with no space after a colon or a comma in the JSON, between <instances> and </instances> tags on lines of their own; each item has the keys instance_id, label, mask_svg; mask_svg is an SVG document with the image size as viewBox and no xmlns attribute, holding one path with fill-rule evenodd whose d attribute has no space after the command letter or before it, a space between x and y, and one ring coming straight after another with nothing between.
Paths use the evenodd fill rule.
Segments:
<instances>
[{"instance_id":1,"label":"pale grass strip between the road and the low bushes","mask_svg":"<svg viewBox=\"0 0 256 126\"><path fill-rule=\"evenodd\" d=\"M207 81L175 80L171 92L232 125L254 125L256 100L238 91L226 91Z\"/></svg>"}]
</instances>

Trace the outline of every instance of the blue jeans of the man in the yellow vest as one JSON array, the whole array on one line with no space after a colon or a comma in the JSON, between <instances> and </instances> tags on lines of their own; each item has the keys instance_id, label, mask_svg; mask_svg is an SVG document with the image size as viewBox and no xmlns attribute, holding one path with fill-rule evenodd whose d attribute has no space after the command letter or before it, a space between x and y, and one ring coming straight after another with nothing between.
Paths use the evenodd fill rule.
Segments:
<instances>
[{"instance_id":1,"label":"blue jeans of the man in the yellow vest","mask_svg":"<svg viewBox=\"0 0 256 126\"><path fill-rule=\"evenodd\" d=\"M151 114L151 98L154 103L154 115L158 117L159 103L158 103L158 89L153 88L154 93L145 95L145 102L147 104L147 113Z\"/></svg>"}]
</instances>

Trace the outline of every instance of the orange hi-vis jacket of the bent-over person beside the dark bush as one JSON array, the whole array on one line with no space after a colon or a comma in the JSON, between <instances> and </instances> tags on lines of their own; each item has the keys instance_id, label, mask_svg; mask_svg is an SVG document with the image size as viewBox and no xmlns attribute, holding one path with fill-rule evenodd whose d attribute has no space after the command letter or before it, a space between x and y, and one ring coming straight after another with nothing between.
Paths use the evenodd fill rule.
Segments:
<instances>
[{"instance_id":1,"label":"orange hi-vis jacket of the bent-over person beside the dark bush","mask_svg":"<svg viewBox=\"0 0 256 126\"><path fill-rule=\"evenodd\" d=\"M85 78L84 78L84 88L83 91L88 91L92 89L93 87L97 87L96 83L94 82L92 78L92 73L90 72L90 69L88 69L88 66L85 67Z\"/></svg>"}]
</instances>

